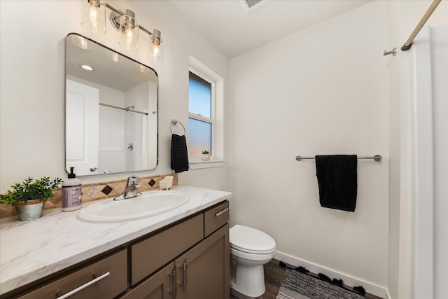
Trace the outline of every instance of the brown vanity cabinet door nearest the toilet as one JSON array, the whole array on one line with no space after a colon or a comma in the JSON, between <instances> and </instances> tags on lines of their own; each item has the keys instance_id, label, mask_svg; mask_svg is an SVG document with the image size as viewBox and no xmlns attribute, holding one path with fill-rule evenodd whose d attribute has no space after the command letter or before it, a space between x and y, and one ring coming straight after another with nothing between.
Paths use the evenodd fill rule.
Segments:
<instances>
[{"instance_id":1,"label":"brown vanity cabinet door nearest the toilet","mask_svg":"<svg viewBox=\"0 0 448 299\"><path fill-rule=\"evenodd\" d=\"M229 224L176 259L177 299L228 299Z\"/></svg>"}]
</instances>

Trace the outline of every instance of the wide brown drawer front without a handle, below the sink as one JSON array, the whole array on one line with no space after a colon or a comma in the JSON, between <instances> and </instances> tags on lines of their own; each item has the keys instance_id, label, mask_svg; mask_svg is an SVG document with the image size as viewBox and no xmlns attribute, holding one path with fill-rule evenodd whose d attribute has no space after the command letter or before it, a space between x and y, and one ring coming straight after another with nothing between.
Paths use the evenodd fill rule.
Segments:
<instances>
[{"instance_id":1,"label":"wide brown drawer front without a handle, below the sink","mask_svg":"<svg viewBox=\"0 0 448 299\"><path fill-rule=\"evenodd\" d=\"M200 214L144 241L132 244L132 285L200 242L203 234L204 216Z\"/></svg>"}]
</instances>

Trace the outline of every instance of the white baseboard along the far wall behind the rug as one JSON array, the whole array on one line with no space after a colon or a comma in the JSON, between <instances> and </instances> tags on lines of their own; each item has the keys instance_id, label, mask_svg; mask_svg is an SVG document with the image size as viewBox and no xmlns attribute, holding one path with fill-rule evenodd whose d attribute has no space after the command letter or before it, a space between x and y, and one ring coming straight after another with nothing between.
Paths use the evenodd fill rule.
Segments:
<instances>
[{"instance_id":1,"label":"white baseboard along the far wall behind the rug","mask_svg":"<svg viewBox=\"0 0 448 299\"><path fill-rule=\"evenodd\" d=\"M342 279L344 284L348 286L363 286L367 293L371 293L372 295L377 295L378 297L384 299L390 299L387 288L383 286L377 286L376 284L372 284L363 279L358 279L356 277L351 277L349 275L343 274L341 272L337 272L335 270L330 270L328 268L322 267L321 265L316 265L314 263L310 263L307 260L300 260L299 258L295 258L294 256L289 256L286 253L275 251L274 258L276 260L281 260L284 263L288 263L289 265L293 265L295 267L302 266L307 268L307 270L313 273L322 273L330 277L331 279Z\"/></svg>"}]
</instances>

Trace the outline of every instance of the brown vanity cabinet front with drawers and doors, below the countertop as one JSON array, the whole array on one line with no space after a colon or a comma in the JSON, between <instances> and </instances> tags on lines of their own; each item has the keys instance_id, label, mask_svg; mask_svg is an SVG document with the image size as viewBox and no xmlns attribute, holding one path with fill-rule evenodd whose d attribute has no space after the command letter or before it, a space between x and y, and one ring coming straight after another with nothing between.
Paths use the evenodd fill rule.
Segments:
<instances>
[{"instance_id":1,"label":"brown vanity cabinet front with drawers and doors, below the countertop","mask_svg":"<svg viewBox=\"0 0 448 299\"><path fill-rule=\"evenodd\" d=\"M228 299L228 221L225 200L10 298Z\"/></svg>"}]
</instances>

